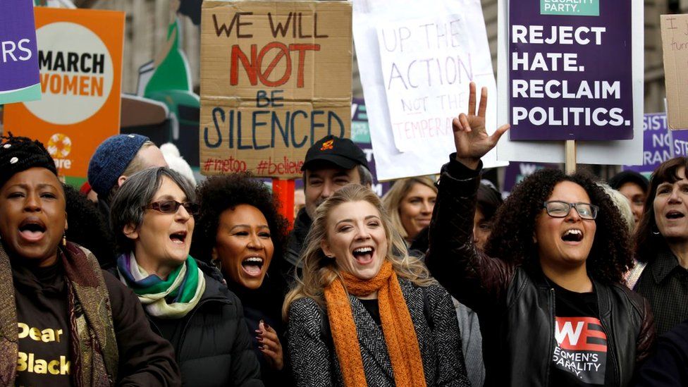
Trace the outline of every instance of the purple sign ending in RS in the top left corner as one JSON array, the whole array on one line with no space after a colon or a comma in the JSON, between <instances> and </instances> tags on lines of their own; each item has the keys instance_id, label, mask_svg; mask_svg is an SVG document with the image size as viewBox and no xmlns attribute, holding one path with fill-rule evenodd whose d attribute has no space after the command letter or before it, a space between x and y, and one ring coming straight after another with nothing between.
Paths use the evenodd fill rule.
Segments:
<instances>
[{"instance_id":1,"label":"purple sign ending in RS in the top left corner","mask_svg":"<svg viewBox=\"0 0 688 387\"><path fill-rule=\"evenodd\" d=\"M0 104L41 99L33 1L0 1L0 25Z\"/></svg>"}]
</instances>

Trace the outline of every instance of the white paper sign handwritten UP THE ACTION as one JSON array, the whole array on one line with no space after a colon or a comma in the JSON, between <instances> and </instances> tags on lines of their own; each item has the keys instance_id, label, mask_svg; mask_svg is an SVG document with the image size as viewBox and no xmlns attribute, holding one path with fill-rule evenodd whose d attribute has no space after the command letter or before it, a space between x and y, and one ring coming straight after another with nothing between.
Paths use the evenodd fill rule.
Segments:
<instances>
[{"instance_id":1,"label":"white paper sign handwritten UP THE ACTION","mask_svg":"<svg viewBox=\"0 0 688 387\"><path fill-rule=\"evenodd\" d=\"M378 178L439 173L455 151L452 118L466 111L468 85L496 89L479 0L354 0L354 38ZM503 166L496 152L486 167Z\"/></svg>"}]
</instances>

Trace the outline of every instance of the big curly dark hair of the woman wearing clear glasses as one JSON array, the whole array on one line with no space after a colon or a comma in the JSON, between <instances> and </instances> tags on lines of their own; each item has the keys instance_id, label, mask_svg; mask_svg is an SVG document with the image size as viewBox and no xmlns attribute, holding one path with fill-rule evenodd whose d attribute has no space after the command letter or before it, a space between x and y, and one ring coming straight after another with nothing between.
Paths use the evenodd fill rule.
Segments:
<instances>
[{"instance_id":1,"label":"big curly dark hair of the woman wearing clear glasses","mask_svg":"<svg viewBox=\"0 0 688 387\"><path fill-rule=\"evenodd\" d=\"M562 181L580 185L591 204L599 207L595 239L586 261L588 275L603 283L622 282L633 265L628 227L612 199L592 178L581 173L567 176L555 169L542 169L525 178L497 210L485 251L515 265L539 267L533 240L535 221L543 214L543 202Z\"/></svg>"}]
</instances>

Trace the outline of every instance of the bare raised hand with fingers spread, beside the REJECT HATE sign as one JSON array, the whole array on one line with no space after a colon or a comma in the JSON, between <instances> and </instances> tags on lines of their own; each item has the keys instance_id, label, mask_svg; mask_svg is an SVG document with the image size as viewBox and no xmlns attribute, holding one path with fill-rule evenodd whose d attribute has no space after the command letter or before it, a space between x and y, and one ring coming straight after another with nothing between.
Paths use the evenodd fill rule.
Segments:
<instances>
[{"instance_id":1,"label":"bare raised hand with fingers spread, beside the REJECT HATE sign","mask_svg":"<svg viewBox=\"0 0 688 387\"><path fill-rule=\"evenodd\" d=\"M485 111L487 110L487 87L480 90L478 113L475 112L475 83L471 82L468 97L468 114L461 113L452 121L456 160L465 166L475 169L480 158L490 151L499 137L509 129L509 125L500 126L493 135L485 130Z\"/></svg>"}]
</instances>

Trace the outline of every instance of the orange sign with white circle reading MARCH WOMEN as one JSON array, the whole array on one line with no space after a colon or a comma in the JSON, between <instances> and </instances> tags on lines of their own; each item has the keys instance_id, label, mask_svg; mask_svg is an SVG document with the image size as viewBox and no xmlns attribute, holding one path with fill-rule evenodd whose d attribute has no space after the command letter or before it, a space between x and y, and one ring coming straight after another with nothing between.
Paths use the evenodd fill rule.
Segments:
<instances>
[{"instance_id":1,"label":"orange sign with white circle reading MARCH WOMEN","mask_svg":"<svg viewBox=\"0 0 688 387\"><path fill-rule=\"evenodd\" d=\"M42 99L6 106L5 130L40 140L61 176L86 177L119 133L124 13L36 8Z\"/></svg>"}]
</instances>

